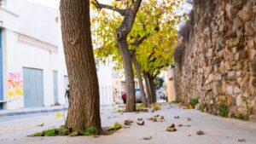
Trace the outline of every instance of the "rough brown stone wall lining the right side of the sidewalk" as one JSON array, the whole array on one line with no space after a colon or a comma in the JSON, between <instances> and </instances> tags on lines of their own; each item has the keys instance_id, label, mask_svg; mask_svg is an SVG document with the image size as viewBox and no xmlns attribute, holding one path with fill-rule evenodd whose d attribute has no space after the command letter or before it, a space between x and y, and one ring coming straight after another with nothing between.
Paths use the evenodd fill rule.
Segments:
<instances>
[{"instance_id":1,"label":"rough brown stone wall lining the right side of the sidewalk","mask_svg":"<svg viewBox=\"0 0 256 144\"><path fill-rule=\"evenodd\" d=\"M256 114L256 1L195 0L182 61L175 67L177 100L199 97L205 111ZM253 116L252 116L253 118Z\"/></svg>"}]
</instances>

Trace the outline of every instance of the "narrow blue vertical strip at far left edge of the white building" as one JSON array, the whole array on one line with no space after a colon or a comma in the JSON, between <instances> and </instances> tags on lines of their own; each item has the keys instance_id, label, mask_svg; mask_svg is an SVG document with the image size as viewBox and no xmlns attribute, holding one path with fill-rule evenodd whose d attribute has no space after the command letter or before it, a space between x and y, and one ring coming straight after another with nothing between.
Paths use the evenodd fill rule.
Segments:
<instances>
[{"instance_id":1,"label":"narrow blue vertical strip at far left edge of the white building","mask_svg":"<svg viewBox=\"0 0 256 144\"><path fill-rule=\"evenodd\" d=\"M0 28L0 101L3 101L3 49L2 49L2 28ZM3 109L3 103L0 103Z\"/></svg>"}]
</instances>

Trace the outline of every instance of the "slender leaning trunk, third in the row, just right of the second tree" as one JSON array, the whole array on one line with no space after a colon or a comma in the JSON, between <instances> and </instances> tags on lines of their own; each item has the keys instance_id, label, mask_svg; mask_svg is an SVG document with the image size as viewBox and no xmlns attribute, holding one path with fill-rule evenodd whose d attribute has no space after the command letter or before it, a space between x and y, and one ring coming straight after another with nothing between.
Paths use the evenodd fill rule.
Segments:
<instances>
[{"instance_id":1,"label":"slender leaning trunk, third in the row, just right of the second tree","mask_svg":"<svg viewBox=\"0 0 256 144\"><path fill-rule=\"evenodd\" d=\"M140 66L137 63L136 55L135 54L131 55L131 59L132 59L132 62L135 66L135 69L136 69L137 79L138 79L139 87L141 89L141 96L142 96L143 106L147 107L147 100L146 100L146 95L145 95L144 86L143 86L143 77L142 77L142 74L141 74L142 72L140 70Z\"/></svg>"}]
</instances>

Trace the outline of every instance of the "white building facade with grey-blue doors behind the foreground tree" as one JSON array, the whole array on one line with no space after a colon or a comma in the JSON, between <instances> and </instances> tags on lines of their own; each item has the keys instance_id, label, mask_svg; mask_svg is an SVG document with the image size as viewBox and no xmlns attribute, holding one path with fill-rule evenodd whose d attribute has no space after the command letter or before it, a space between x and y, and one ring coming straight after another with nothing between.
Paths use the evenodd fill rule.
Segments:
<instances>
[{"instance_id":1,"label":"white building facade with grey-blue doors behind the foreground tree","mask_svg":"<svg viewBox=\"0 0 256 144\"><path fill-rule=\"evenodd\" d=\"M4 2L0 6L0 109L64 104L68 77L59 11L26 0ZM109 70L107 66L98 70L102 105L113 101L108 92L111 81L105 81L111 78Z\"/></svg>"}]
</instances>

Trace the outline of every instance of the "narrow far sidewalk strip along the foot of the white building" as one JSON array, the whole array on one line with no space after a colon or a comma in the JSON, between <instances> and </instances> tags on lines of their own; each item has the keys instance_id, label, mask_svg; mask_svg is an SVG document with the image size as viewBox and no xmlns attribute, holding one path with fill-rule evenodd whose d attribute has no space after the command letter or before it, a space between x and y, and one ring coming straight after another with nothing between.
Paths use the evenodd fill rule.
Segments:
<instances>
[{"instance_id":1,"label":"narrow far sidewalk strip along the foot of the white building","mask_svg":"<svg viewBox=\"0 0 256 144\"><path fill-rule=\"evenodd\" d=\"M54 107L33 107L33 108L21 108L17 110L0 110L0 116L15 116L22 114L31 114L39 112L57 112L67 110L65 106L54 106Z\"/></svg>"}]
</instances>

